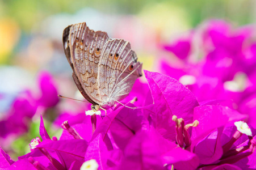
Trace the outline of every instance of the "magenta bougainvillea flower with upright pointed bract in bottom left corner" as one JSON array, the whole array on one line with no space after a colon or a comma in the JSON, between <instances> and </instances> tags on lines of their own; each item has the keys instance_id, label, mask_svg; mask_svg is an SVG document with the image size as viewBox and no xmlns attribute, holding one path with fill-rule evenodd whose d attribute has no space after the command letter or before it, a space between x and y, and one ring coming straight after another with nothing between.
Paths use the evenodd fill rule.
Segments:
<instances>
[{"instance_id":1,"label":"magenta bougainvillea flower with upright pointed bract in bottom left corner","mask_svg":"<svg viewBox=\"0 0 256 170\"><path fill-rule=\"evenodd\" d=\"M81 167L85 160L87 141L74 136L59 141L54 137L52 140L44 128L42 117L40 135L43 140L40 141L39 138L32 140L31 152L20 156L16 162L1 150L0 168L24 169L26 166L30 169L79 169Z\"/></svg>"}]
</instances>

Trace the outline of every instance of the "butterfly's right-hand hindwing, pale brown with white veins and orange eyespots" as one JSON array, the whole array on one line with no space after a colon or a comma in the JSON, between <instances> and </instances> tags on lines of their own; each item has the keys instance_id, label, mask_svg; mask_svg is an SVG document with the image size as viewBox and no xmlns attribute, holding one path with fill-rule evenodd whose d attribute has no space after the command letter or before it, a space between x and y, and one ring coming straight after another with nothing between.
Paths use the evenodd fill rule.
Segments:
<instances>
[{"instance_id":1,"label":"butterfly's right-hand hindwing, pale brown with white veins and orange eyespots","mask_svg":"<svg viewBox=\"0 0 256 170\"><path fill-rule=\"evenodd\" d=\"M99 61L98 84L102 107L114 105L131 92L135 80L142 75L142 63L128 41L109 40Z\"/></svg>"}]
</instances>

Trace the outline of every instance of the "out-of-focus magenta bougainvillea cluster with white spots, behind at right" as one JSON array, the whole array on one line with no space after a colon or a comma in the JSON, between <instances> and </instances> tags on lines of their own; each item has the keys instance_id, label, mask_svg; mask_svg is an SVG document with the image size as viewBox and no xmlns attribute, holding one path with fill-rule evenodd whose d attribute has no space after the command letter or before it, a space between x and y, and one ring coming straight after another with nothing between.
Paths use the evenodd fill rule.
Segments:
<instances>
[{"instance_id":1,"label":"out-of-focus magenta bougainvillea cluster with white spots, behind at right","mask_svg":"<svg viewBox=\"0 0 256 170\"><path fill-rule=\"evenodd\" d=\"M190 55L175 63L161 60L161 72L186 85L200 103L233 101L232 108L249 115L247 122L255 128L255 107L249 104L256 92L254 27L233 28L223 20L209 20L192 32Z\"/></svg>"}]
</instances>

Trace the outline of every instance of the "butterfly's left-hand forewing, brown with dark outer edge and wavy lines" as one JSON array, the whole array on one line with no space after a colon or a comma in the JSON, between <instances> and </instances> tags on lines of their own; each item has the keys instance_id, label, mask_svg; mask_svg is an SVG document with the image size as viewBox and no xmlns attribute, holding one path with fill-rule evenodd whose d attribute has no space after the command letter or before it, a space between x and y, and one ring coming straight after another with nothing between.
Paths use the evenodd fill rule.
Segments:
<instances>
[{"instance_id":1,"label":"butterfly's left-hand forewing, brown with dark outer edge and wavy lines","mask_svg":"<svg viewBox=\"0 0 256 170\"><path fill-rule=\"evenodd\" d=\"M74 72L75 84L85 99L92 104L102 104L97 84L98 63L108 40L106 32L95 32L89 29L86 23L70 25L64 29L64 50Z\"/></svg>"}]
</instances>

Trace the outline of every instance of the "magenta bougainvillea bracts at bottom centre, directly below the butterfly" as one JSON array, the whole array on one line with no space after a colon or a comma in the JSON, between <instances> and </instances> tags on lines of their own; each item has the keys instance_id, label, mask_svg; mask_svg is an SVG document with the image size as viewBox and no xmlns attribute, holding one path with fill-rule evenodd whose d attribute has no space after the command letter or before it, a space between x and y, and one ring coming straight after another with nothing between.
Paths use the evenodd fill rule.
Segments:
<instances>
[{"instance_id":1,"label":"magenta bougainvillea bracts at bottom centre, directly below the butterfly","mask_svg":"<svg viewBox=\"0 0 256 170\"><path fill-rule=\"evenodd\" d=\"M132 104L128 106L134 107ZM86 151L86 161L95 159L99 169L113 165L119 169L162 169L164 165L165 168L172 164L183 167L186 163L189 164L188 169L198 166L199 160L195 154L183 151L152 128L147 114L142 113L141 109L133 110L117 105L95 130Z\"/></svg>"}]
</instances>

